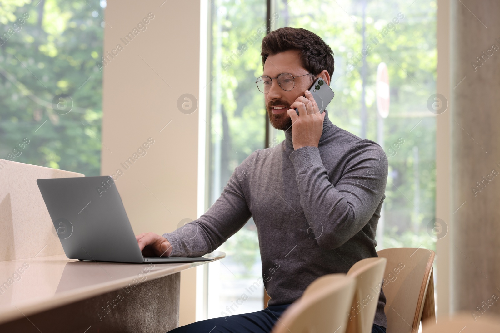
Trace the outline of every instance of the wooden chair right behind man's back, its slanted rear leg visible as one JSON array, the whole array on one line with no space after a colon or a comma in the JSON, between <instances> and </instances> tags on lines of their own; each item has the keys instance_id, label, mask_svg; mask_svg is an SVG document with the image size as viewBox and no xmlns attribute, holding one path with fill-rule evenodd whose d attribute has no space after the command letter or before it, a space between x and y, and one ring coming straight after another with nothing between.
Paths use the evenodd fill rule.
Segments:
<instances>
[{"instance_id":1,"label":"wooden chair right behind man's back, its slanted rear leg visible","mask_svg":"<svg viewBox=\"0 0 500 333\"><path fill-rule=\"evenodd\" d=\"M395 248L377 253L387 259L382 287L387 299L387 333L416 333L420 320L422 329L435 324L434 251Z\"/></svg>"}]
</instances>

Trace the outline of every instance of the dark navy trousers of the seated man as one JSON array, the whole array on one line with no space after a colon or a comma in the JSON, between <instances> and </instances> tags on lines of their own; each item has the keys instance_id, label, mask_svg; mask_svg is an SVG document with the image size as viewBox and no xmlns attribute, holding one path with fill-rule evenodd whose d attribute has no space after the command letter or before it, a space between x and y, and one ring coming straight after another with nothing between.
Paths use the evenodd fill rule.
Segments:
<instances>
[{"instance_id":1,"label":"dark navy trousers of the seated man","mask_svg":"<svg viewBox=\"0 0 500 333\"><path fill-rule=\"evenodd\" d=\"M168 331L169 333L269 333L289 304L274 305L249 314L199 321ZM373 324L371 333L385 333Z\"/></svg>"}]
</instances>

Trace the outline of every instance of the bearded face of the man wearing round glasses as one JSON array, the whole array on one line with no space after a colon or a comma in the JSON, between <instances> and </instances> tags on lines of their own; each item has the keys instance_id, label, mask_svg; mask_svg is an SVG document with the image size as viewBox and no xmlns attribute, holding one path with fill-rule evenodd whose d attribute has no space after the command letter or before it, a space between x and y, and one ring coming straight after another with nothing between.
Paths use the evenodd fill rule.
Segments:
<instances>
[{"instance_id":1,"label":"bearded face of the man wearing round glasses","mask_svg":"<svg viewBox=\"0 0 500 333\"><path fill-rule=\"evenodd\" d=\"M279 74L289 73L292 76L307 74L308 71L302 67L300 51L288 50L274 55L269 55L264 63L262 75L277 77ZM290 105L303 96L304 91L309 89L314 81L314 75L304 75L295 78L295 86L290 91L281 89L276 79L272 79L272 86L265 96L265 108L269 115L272 127L287 130L291 127L291 118L286 115Z\"/></svg>"}]
</instances>

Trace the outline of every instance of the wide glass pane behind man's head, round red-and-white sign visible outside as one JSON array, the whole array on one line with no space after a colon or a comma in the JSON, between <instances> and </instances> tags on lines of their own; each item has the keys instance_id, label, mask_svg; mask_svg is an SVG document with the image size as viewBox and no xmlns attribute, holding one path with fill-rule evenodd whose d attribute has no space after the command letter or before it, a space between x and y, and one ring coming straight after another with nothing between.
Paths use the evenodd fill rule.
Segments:
<instances>
[{"instance_id":1,"label":"wide glass pane behind man's head, round red-and-white sign visible outside","mask_svg":"<svg viewBox=\"0 0 500 333\"><path fill-rule=\"evenodd\" d=\"M294 0L274 2L275 28L301 27L318 34L334 53L335 92L329 119L379 143L389 172L377 250L435 249L427 232L435 218L436 2L404 0ZM365 50L365 51L363 51ZM376 76L388 68L390 107L377 111ZM435 111L434 111L435 112ZM275 133L276 131L274 131ZM284 138L279 131L275 140Z\"/></svg>"}]
</instances>

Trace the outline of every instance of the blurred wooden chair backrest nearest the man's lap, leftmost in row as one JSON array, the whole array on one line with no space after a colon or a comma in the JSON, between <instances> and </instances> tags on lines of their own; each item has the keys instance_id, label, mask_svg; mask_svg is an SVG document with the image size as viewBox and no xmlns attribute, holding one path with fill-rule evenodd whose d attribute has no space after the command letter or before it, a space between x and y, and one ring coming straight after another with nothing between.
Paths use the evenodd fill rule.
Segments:
<instances>
[{"instance_id":1,"label":"blurred wooden chair backrest nearest the man's lap, leftmost in row","mask_svg":"<svg viewBox=\"0 0 500 333\"><path fill-rule=\"evenodd\" d=\"M355 283L345 274L317 278L279 317L271 333L344 333Z\"/></svg>"}]
</instances>

